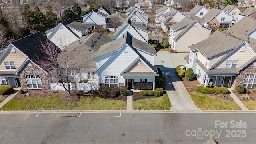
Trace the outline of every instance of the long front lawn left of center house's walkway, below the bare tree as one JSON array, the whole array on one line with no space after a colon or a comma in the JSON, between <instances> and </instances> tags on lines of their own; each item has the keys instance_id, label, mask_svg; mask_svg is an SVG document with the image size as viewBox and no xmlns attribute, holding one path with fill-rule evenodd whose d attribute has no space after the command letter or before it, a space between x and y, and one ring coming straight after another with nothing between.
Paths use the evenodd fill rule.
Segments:
<instances>
[{"instance_id":1,"label":"long front lawn left of center house's walkway, below the bare tree","mask_svg":"<svg viewBox=\"0 0 256 144\"><path fill-rule=\"evenodd\" d=\"M20 98L10 100L1 110L126 110L126 102L81 96L76 101L62 101L59 94L47 98Z\"/></svg>"}]
</instances>

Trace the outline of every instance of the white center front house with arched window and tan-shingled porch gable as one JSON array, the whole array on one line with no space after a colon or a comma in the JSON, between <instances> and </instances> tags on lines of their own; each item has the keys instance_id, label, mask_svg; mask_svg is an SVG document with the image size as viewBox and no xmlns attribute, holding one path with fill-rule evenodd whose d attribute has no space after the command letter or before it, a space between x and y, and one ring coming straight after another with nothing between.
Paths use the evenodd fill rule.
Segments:
<instances>
[{"instance_id":1,"label":"white center front house with arched window and tan-shingled porch gable","mask_svg":"<svg viewBox=\"0 0 256 144\"><path fill-rule=\"evenodd\" d=\"M126 32L123 37L100 46L94 56L98 85L154 90L155 76L158 76L153 66L154 56L152 45Z\"/></svg>"}]
</instances>

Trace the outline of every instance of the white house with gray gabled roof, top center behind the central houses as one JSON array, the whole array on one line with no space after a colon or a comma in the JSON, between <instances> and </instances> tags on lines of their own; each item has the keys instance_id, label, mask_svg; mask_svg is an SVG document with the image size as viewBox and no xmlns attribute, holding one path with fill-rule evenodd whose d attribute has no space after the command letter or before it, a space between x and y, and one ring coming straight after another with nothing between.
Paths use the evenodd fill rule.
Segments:
<instances>
[{"instance_id":1,"label":"white house with gray gabled roof, top center behind the central houses","mask_svg":"<svg viewBox=\"0 0 256 144\"><path fill-rule=\"evenodd\" d=\"M142 26L148 26L148 15L145 14L145 12L141 12L142 10L138 9L136 6L134 6L131 10L126 10L126 16L129 18L132 22L135 22L136 24L140 24Z\"/></svg>"}]
</instances>

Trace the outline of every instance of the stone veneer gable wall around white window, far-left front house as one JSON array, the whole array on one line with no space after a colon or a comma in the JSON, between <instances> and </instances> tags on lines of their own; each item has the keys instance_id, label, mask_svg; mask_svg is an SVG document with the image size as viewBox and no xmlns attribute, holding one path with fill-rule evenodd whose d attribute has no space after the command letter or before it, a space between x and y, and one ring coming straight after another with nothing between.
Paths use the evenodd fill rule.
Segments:
<instances>
[{"instance_id":1,"label":"stone veneer gable wall around white window, far-left front house","mask_svg":"<svg viewBox=\"0 0 256 144\"><path fill-rule=\"evenodd\" d=\"M31 66L28 66L29 63L31 64ZM24 90L28 90L26 74L40 75L42 89L34 89L34 90L50 90L49 83L48 83L48 76L45 74L44 71L42 71L40 68L38 68L36 65L34 65L30 61L28 61L18 73L21 88L23 88ZM33 90L33 89L29 89L29 90Z\"/></svg>"}]
</instances>

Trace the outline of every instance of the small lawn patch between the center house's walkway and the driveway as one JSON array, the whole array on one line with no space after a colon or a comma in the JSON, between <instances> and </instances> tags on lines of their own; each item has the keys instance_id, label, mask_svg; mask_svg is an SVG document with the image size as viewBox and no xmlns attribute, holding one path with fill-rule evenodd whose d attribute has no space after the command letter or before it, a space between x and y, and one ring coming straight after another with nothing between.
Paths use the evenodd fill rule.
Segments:
<instances>
[{"instance_id":1,"label":"small lawn patch between the center house's walkway and the driveway","mask_svg":"<svg viewBox=\"0 0 256 144\"><path fill-rule=\"evenodd\" d=\"M171 103L166 94L156 98L145 98L133 102L134 110L170 110Z\"/></svg>"}]
</instances>

